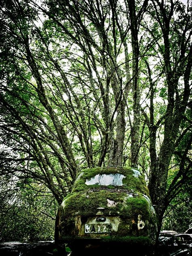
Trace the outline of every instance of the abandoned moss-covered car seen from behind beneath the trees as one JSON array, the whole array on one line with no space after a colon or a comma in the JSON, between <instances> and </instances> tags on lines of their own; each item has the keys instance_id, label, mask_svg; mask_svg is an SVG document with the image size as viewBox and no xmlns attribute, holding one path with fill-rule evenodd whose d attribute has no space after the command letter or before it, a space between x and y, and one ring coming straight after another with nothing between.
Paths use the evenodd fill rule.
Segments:
<instances>
[{"instance_id":1,"label":"abandoned moss-covered car seen from behind beneath the trees","mask_svg":"<svg viewBox=\"0 0 192 256\"><path fill-rule=\"evenodd\" d=\"M124 167L81 172L55 223L55 241L67 243L73 251L117 244L143 250L154 245L156 233L156 213L144 176Z\"/></svg>"}]
</instances>

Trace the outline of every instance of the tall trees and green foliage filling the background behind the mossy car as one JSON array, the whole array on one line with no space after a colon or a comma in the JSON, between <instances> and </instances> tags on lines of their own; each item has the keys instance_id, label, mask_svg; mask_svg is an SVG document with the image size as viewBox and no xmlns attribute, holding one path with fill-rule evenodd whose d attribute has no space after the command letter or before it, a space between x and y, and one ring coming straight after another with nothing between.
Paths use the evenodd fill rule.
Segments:
<instances>
[{"instance_id":1,"label":"tall trees and green foliage filling the background behind the mossy car","mask_svg":"<svg viewBox=\"0 0 192 256\"><path fill-rule=\"evenodd\" d=\"M1 230L51 234L75 177L96 166L139 168L159 230L164 213L186 228L190 1L2 0L0 27Z\"/></svg>"}]
</instances>

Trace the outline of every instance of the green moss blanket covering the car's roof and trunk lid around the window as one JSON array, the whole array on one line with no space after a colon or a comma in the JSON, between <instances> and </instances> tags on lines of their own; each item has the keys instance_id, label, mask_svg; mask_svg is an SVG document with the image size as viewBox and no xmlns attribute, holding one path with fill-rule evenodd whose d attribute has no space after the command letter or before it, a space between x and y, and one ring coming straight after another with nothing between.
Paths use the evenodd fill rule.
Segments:
<instances>
[{"instance_id":1,"label":"green moss blanket covering the car's roof and trunk lid around the window","mask_svg":"<svg viewBox=\"0 0 192 256\"><path fill-rule=\"evenodd\" d=\"M85 182L97 174L119 173L125 176L123 186L86 185ZM136 177L135 177L136 176ZM72 192L64 198L62 208L64 215L95 215L97 208L104 207L104 214L129 216L133 212L149 215L149 204L143 197L149 196L143 175L134 175L131 168L105 167L87 169L76 179ZM133 196L133 197L132 197ZM117 203L115 207L107 206L107 199ZM126 202L124 200L126 199ZM124 202L124 203L123 203Z\"/></svg>"}]
</instances>

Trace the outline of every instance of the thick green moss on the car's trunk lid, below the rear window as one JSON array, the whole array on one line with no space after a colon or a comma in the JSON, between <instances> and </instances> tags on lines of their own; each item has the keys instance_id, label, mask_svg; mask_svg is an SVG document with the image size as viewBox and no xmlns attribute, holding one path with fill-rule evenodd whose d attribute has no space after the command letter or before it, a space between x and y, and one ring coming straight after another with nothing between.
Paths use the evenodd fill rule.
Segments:
<instances>
[{"instance_id":1,"label":"thick green moss on the car's trunk lid, below the rear window","mask_svg":"<svg viewBox=\"0 0 192 256\"><path fill-rule=\"evenodd\" d=\"M129 197L126 192L111 192L113 190L98 190L72 193L65 201L62 208L62 219L74 220L76 215L95 216L99 207L103 207L104 215L120 216L122 219L134 219L140 214L142 220L151 221L151 211L146 198L140 193ZM117 203L115 207L107 205L107 199ZM131 223L129 223L131 224ZM126 225L124 226L124 228ZM127 226L128 228L128 226ZM122 230L120 230L122 233ZM126 231L124 233L127 233Z\"/></svg>"}]
</instances>

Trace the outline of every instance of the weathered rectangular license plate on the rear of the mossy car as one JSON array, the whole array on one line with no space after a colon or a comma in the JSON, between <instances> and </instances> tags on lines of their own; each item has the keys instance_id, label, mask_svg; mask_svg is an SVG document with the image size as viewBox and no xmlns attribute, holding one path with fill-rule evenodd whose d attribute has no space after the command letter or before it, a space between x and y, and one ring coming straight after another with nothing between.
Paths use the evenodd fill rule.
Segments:
<instances>
[{"instance_id":1,"label":"weathered rectangular license plate on the rear of the mossy car","mask_svg":"<svg viewBox=\"0 0 192 256\"><path fill-rule=\"evenodd\" d=\"M110 233L112 226L106 224L85 224L85 233Z\"/></svg>"}]
</instances>

